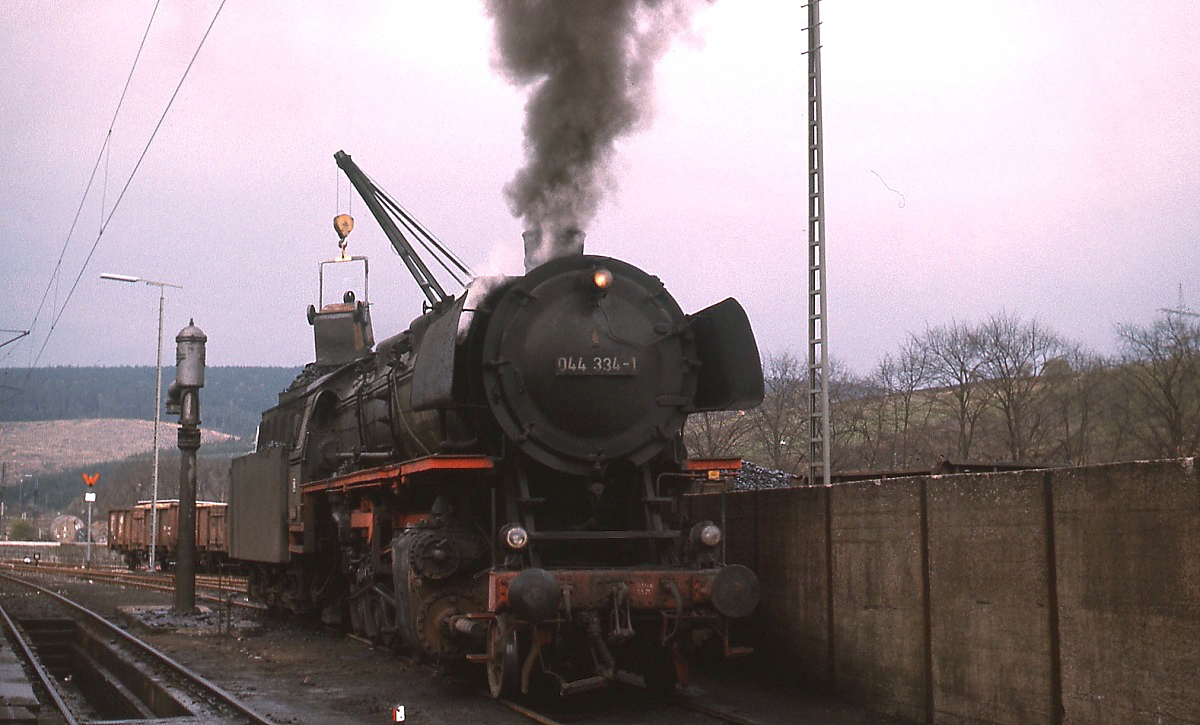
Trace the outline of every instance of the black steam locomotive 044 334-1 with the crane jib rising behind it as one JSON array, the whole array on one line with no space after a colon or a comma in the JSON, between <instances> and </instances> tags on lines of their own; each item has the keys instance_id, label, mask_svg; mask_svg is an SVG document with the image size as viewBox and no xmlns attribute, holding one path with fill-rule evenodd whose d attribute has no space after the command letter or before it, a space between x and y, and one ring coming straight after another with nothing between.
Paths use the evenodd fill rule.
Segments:
<instances>
[{"instance_id":1,"label":"black steam locomotive 044 334-1 with the crane jib rising behind it","mask_svg":"<svg viewBox=\"0 0 1200 725\"><path fill-rule=\"evenodd\" d=\"M582 253L444 295L395 223L407 212L337 161L430 304L378 344L355 292L308 308L316 361L232 466L229 553L251 594L482 664L493 696L618 671L670 688L704 639L737 652L757 579L680 499L737 465L690 460L688 415L763 395L742 306L685 314L658 277ZM340 234L322 264L360 260L365 293Z\"/></svg>"}]
</instances>

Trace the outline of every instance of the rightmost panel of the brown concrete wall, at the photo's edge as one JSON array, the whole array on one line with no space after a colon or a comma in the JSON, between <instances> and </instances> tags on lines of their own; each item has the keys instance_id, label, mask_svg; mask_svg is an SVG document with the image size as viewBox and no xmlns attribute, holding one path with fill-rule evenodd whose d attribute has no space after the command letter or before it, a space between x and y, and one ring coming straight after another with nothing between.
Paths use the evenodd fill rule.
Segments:
<instances>
[{"instance_id":1,"label":"rightmost panel of the brown concrete wall, at the photo's edge","mask_svg":"<svg viewBox=\"0 0 1200 725\"><path fill-rule=\"evenodd\" d=\"M1057 473L1054 510L1066 719L1200 721L1192 460Z\"/></svg>"}]
</instances>

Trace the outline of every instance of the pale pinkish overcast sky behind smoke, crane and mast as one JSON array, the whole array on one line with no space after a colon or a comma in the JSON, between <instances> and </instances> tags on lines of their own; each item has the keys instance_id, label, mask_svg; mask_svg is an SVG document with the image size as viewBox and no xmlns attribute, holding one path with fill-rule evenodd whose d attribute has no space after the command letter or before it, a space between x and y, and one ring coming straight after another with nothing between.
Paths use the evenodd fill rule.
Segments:
<instances>
[{"instance_id":1,"label":"pale pinkish overcast sky behind smoke, crane and mast","mask_svg":"<svg viewBox=\"0 0 1200 725\"><path fill-rule=\"evenodd\" d=\"M524 91L476 2L229 0L96 244L218 0L163 2L102 146L150 0L0 2L0 365L166 360L190 317L210 365L302 365L317 263L352 211L377 338L421 295L332 155L344 149L479 272L521 270L504 185ZM859 372L908 332L1007 310L1099 352L1112 325L1200 308L1200 4L823 2L829 350ZM587 250L685 311L746 307L804 354L804 8L718 0L659 62ZM889 188L890 187L890 188ZM894 191L892 191L894 190ZM78 289L49 323L92 245ZM52 283L53 281L53 283ZM0 332L0 342L10 337Z\"/></svg>"}]
</instances>

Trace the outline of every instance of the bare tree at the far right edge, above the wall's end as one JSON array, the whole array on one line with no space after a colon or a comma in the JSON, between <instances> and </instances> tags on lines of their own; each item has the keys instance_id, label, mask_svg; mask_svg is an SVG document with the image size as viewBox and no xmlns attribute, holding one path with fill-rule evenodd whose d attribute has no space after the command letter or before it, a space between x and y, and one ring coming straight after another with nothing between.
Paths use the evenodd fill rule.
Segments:
<instances>
[{"instance_id":1,"label":"bare tree at the far right edge, above the wall's end","mask_svg":"<svg viewBox=\"0 0 1200 725\"><path fill-rule=\"evenodd\" d=\"M1138 436L1151 455L1182 456L1200 445L1200 325L1164 314L1150 326L1117 325L1120 379Z\"/></svg>"}]
</instances>

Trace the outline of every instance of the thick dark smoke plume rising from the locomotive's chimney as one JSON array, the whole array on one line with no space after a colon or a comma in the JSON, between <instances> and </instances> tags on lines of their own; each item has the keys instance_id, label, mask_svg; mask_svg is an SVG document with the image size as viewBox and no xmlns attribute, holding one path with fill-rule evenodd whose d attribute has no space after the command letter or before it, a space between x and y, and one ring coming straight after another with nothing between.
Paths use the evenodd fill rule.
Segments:
<instances>
[{"instance_id":1,"label":"thick dark smoke plume rising from the locomotive's chimney","mask_svg":"<svg viewBox=\"0 0 1200 725\"><path fill-rule=\"evenodd\" d=\"M496 62L534 86L526 102L526 166L505 187L512 214L541 244L526 269L577 251L606 191L614 142L652 112L654 62L686 28L686 0L487 0Z\"/></svg>"}]
</instances>

